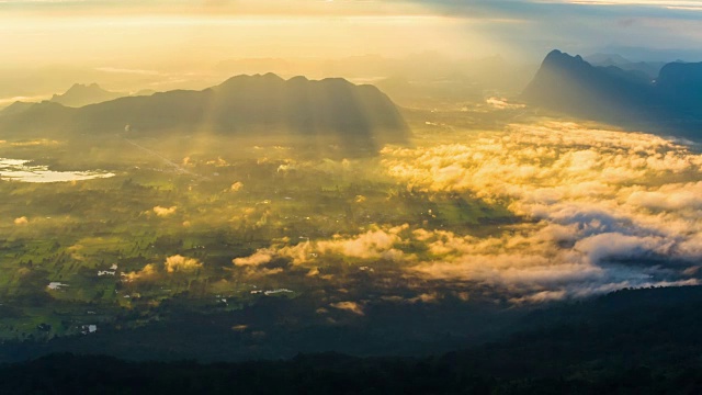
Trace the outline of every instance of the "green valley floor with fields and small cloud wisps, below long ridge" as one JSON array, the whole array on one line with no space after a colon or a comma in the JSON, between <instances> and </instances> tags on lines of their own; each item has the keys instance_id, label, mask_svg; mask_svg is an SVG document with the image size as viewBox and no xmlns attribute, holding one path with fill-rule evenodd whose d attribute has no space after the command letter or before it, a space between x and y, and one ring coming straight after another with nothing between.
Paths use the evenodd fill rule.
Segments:
<instances>
[{"instance_id":1,"label":"green valley floor with fields and small cloud wisps, below long ridge","mask_svg":"<svg viewBox=\"0 0 702 395\"><path fill-rule=\"evenodd\" d=\"M432 133L416 128L416 142ZM430 259L411 240L419 227L485 236L522 221L466 193L414 191L388 176L382 154L335 149L327 156L223 136L5 142L0 157L116 176L0 181L0 338L50 339L89 325L135 328L161 319L163 302L174 297L199 312L320 290L326 295L314 308L352 312L333 301L367 292L417 297L424 285L398 273L409 263L387 255L389 246L373 245L383 253L364 256L329 242L395 232L393 253ZM317 257L313 250L321 246L327 250ZM306 256L234 263L272 248ZM369 269L374 279L359 283Z\"/></svg>"}]
</instances>

